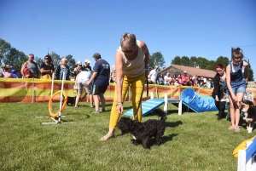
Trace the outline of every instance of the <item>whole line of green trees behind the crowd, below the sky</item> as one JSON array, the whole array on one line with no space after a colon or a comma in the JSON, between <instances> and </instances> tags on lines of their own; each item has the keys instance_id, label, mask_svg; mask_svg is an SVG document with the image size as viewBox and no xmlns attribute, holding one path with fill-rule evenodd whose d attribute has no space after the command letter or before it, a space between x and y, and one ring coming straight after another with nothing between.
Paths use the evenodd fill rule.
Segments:
<instances>
[{"instance_id":1,"label":"whole line of green trees behind the crowd, below the sky","mask_svg":"<svg viewBox=\"0 0 256 171\"><path fill-rule=\"evenodd\" d=\"M76 60L73 59L72 54L67 54L64 57L61 57L59 54L55 52L51 52L49 54L52 57L53 65L59 66L59 62L62 58L67 58L68 66L70 70L73 71L74 67L76 66ZM5 40L0 38L0 66L4 64L9 64L13 66L16 71L20 71L21 66L26 62L27 55L24 54L22 51L11 47L10 43L7 43ZM35 55L35 62L38 65L41 65L44 62L44 56L38 57ZM207 60L207 58L203 57L195 57L191 56L175 56L170 65L179 65L179 66L191 66L191 67L199 67L201 69L212 70L215 71L215 66L220 63L224 66L228 66L230 59L228 57L219 56L217 60ZM166 60L164 55L160 52L155 52L149 55L148 59L148 71L154 69L154 66L159 66L159 69L166 68ZM253 81L253 70L251 69L251 65L249 64L249 78L248 81Z\"/></svg>"}]
</instances>

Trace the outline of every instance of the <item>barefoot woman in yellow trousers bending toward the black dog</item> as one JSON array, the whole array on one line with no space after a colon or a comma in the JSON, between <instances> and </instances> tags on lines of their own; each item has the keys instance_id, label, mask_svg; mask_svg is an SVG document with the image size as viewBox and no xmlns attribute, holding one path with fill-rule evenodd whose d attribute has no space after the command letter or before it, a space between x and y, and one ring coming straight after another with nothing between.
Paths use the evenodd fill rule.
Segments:
<instances>
[{"instance_id":1,"label":"barefoot woman in yellow trousers bending toward the black dog","mask_svg":"<svg viewBox=\"0 0 256 171\"><path fill-rule=\"evenodd\" d=\"M108 140L113 137L114 129L119 116L124 112L123 101L131 85L133 119L142 120L141 98L148 76L148 48L146 43L138 41L134 34L127 33L121 37L120 47L115 54L116 87L114 90L113 105L110 114L108 134L100 140Z\"/></svg>"}]
</instances>

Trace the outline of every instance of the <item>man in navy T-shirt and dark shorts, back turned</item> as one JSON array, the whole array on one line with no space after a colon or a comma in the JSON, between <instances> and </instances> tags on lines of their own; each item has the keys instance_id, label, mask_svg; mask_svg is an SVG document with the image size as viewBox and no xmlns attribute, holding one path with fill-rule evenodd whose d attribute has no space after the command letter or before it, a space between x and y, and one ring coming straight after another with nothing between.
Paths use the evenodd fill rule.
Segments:
<instances>
[{"instance_id":1,"label":"man in navy T-shirt and dark shorts, back turned","mask_svg":"<svg viewBox=\"0 0 256 171\"><path fill-rule=\"evenodd\" d=\"M100 101L102 102L102 111L105 111L105 104L106 100L104 97L104 93L108 88L109 85L109 77L110 77L110 66L106 60L102 60L102 56L99 53L95 53L92 56L96 61L95 66L93 67L93 74L90 77L90 80L87 84L93 83L93 99L95 104L95 111L94 113L100 113Z\"/></svg>"}]
</instances>

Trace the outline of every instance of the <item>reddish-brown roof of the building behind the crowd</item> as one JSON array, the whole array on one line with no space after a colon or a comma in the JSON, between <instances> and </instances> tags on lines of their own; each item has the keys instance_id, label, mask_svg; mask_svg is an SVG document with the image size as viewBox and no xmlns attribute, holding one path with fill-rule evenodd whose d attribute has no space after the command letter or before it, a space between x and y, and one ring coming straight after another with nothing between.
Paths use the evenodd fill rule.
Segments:
<instances>
[{"instance_id":1,"label":"reddish-brown roof of the building behind the crowd","mask_svg":"<svg viewBox=\"0 0 256 171\"><path fill-rule=\"evenodd\" d=\"M171 65L166 67L165 69L161 70L162 72L169 71L171 75L175 73L175 71L187 71L187 74L190 76L203 76L203 77L211 77L213 78L216 75L215 71L205 70L201 68L195 68L190 66L178 66L178 65Z\"/></svg>"}]
</instances>

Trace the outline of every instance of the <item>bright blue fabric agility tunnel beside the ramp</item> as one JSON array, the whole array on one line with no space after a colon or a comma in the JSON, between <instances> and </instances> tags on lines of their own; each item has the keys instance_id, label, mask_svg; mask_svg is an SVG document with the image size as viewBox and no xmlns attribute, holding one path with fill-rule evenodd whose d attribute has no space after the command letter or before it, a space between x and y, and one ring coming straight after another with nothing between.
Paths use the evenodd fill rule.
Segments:
<instances>
[{"instance_id":1,"label":"bright blue fabric agility tunnel beside the ramp","mask_svg":"<svg viewBox=\"0 0 256 171\"><path fill-rule=\"evenodd\" d=\"M212 97L202 97L196 94L193 88L186 88L180 95L183 105L186 105L195 112L201 111L218 111Z\"/></svg>"}]
</instances>

